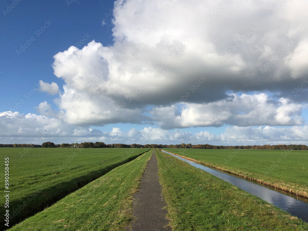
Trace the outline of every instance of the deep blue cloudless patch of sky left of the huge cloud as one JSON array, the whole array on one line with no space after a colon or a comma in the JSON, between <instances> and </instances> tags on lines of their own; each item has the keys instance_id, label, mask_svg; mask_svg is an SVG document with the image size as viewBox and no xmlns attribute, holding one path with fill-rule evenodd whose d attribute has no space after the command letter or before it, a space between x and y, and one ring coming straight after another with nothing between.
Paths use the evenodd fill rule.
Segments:
<instances>
[{"instance_id":1,"label":"deep blue cloudless patch of sky left of the huge cloud","mask_svg":"<svg viewBox=\"0 0 308 231\"><path fill-rule=\"evenodd\" d=\"M11 1L3 1L1 9L6 10L10 4ZM106 18L105 13L108 14L112 8L113 1L95 1L91 4L85 1L21 1L5 17L2 14L1 53L6 55L0 58L3 99L0 110L10 110L39 80L52 80L61 87L64 82L55 77L51 67L53 56L83 39L84 33L91 35L89 41L96 39L104 45L112 44L111 27L101 26L102 19ZM44 25L45 20L52 23L37 37L34 33ZM105 21L111 26L109 21ZM18 56L16 50L20 50L25 40L32 36L35 41ZM54 98L35 92L35 96L30 97L18 111L36 113L34 106L41 102L42 97L50 102Z\"/></svg>"}]
</instances>

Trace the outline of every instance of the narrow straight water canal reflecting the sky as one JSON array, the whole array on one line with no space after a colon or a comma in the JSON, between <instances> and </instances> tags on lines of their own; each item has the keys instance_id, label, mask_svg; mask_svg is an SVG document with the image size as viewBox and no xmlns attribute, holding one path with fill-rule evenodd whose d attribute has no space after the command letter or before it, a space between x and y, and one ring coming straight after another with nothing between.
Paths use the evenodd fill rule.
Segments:
<instances>
[{"instance_id":1,"label":"narrow straight water canal reflecting the sky","mask_svg":"<svg viewBox=\"0 0 308 231\"><path fill-rule=\"evenodd\" d=\"M301 218L303 221L308 222L308 203L307 199L303 197L296 197L293 195L284 194L279 192L280 190L275 190L274 188L266 187L257 182L253 182L251 180L243 179L239 176L229 174L227 172L219 171L214 168L207 167L203 164L199 164L192 160L187 160L180 156L173 155L170 152L166 152L161 150L162 152L168 153L176 158L187 162L190 165L193 165L196 168L200 168L206 172L211 173L218 178L225 180L248 193L256 195L260 197L264 201L269 202L272 205L279 207L287 211L288 213L292 214L293 216L297 216Z\"/></svg>"}]
</instances>

